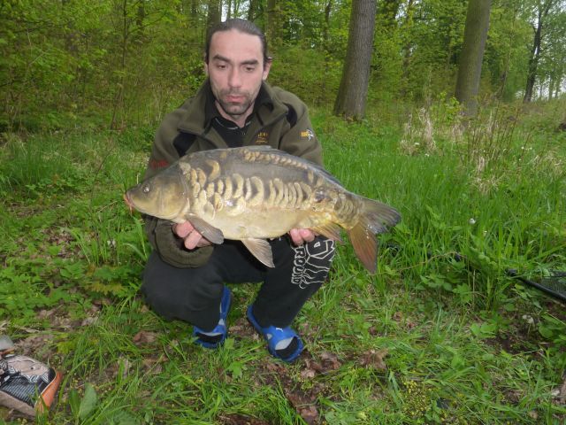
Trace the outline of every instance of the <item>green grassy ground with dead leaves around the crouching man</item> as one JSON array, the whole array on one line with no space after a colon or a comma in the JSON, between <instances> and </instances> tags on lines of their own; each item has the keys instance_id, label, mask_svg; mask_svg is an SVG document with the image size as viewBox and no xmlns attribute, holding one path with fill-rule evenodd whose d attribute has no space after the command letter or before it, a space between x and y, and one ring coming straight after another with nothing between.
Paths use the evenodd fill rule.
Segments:
<instances>
[{"instance_id":1,"label":"green grassy ground with dead leaves around the crouching man","mask_svg":"<svg viewBox=\"0 0 566 425\"><path fill-rule=\"evenodd\" d=\"M535 126L547 117L536 110L513 132L488 126L506 146L490 152L496 135L453 136L450 107L436 104L409 133L313 112L327 168L403 220L380 237L375 275L340 246L330 281L295 321L307 351L291 366L244 320L254 285L233 287L231 336L216 352L144 305L149 246L121 194L142 175L151 126L6 137L0 333L65 374L37 421L562 423L563 305L505 269L566 269L564 135ZM27 420L0 408L2 421Z\"/></svg>"}]
</instances>

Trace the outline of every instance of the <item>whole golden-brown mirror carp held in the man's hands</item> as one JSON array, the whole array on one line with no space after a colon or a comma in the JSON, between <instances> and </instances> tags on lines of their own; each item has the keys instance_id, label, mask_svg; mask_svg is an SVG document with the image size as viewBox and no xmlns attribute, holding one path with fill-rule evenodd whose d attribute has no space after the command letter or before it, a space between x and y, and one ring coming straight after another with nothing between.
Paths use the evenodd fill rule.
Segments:
<instances>
[{"instance_id":1,"label":"whole golden-brown mirror carp held in the man's hands","mask_svg":"<svg viewBox=\"0 0 566 425\"><path fill-rule=\"evenodd\" d=\"M321 166L258 146L187 155L127 190L125 198L142 213L191 221L212 243L241 240L268 267L267 239L311 228L341 240L343 228L363 266L375 272L374 235L401 219L394 208L344 189Z\"/></svg>"}]
</instances>

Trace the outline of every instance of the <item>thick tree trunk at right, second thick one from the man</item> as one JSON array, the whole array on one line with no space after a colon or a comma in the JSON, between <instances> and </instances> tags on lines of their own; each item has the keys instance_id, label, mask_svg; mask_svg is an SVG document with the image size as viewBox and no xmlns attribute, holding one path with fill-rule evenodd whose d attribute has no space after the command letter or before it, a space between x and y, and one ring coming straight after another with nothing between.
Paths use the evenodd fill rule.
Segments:
<instances>
[{"instance_id":1,"label":"thick tree trunk at right, second thick one from the man","mask_svg":"<svg viewBox=\"0 0 566 425\"><path fill-rule=\"evenodd\" d=\"M463 49L455 97L463 104L464 114L472 117L478 112L478 92L481 65L486 50L489 12L492 0L470 0L463 34Z\"/></svg>"}]
</instances>

